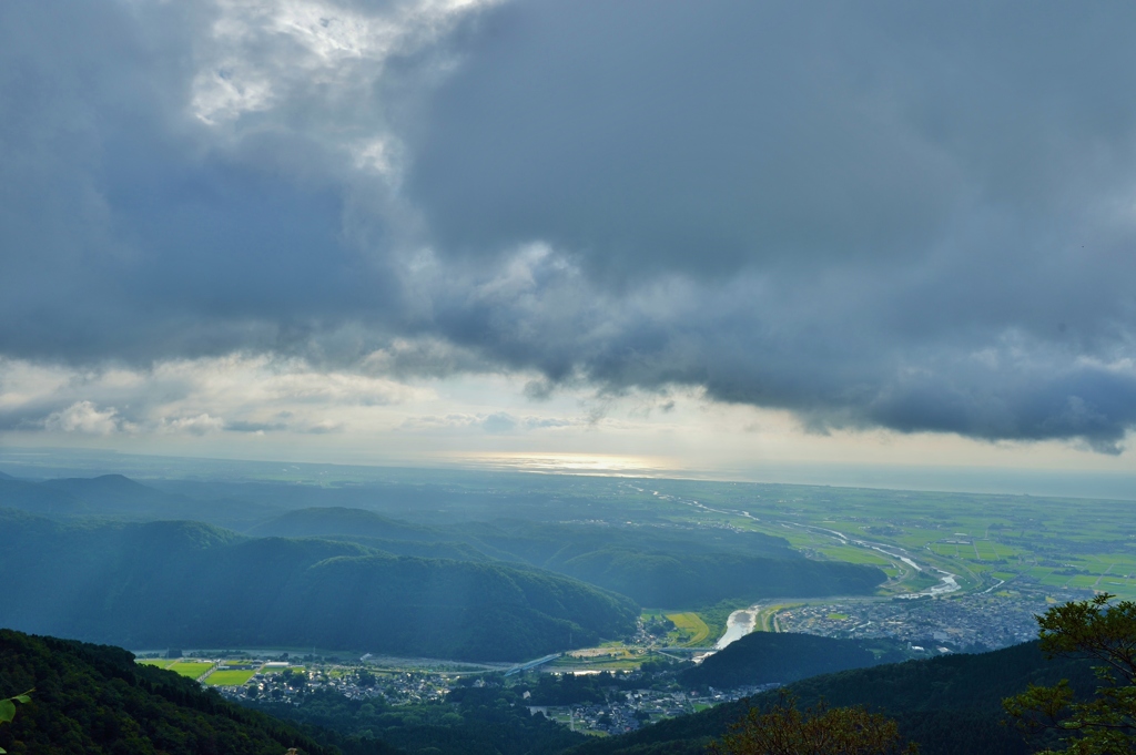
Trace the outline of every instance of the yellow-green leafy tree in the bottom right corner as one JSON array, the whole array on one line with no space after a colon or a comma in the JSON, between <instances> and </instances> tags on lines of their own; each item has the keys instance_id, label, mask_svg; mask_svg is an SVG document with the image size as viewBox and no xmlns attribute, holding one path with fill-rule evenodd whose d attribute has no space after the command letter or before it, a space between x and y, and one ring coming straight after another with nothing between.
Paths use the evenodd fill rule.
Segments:
<instances>
[{"instance_id":1,"label":"yellow-green leafy tree in the bottom right corner","mask_svg":"<svg viewBox=\"0 0 1136 755\"><path fill-rule=\"evenodd\" d=\"M1136 749L1136 603L1110 604L1104 593L1070 602L1037 616L1042 651L1047 657L1087 657L1099 687L1087 702L1075 699L1069 682L1030 685L1003 701L1006 712L1027 732L1049 733L1060 744L1043 753L1109 755Z\"/></svg>"}]
</instances>

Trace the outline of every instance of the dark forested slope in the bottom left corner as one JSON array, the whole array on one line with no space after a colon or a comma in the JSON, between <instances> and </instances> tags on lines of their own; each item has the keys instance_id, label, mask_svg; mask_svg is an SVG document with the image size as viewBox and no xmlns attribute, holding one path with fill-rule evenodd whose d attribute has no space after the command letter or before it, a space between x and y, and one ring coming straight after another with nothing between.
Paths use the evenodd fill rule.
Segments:
<instances>
[{"instance_id":1,"label":"dark forested slope in the bottom left corner","mask_svg":"<svg viewBox=\"0 0 1136 755\"><path fill-rule=\"evenodd\" d=\"M333 755L294 725L226 703L175 673L139 666L117 647L0 630L0 696L35 688L0 725L12 755ZM385 750L376 746L379 755Z\"/></svg>"}]
</instances>

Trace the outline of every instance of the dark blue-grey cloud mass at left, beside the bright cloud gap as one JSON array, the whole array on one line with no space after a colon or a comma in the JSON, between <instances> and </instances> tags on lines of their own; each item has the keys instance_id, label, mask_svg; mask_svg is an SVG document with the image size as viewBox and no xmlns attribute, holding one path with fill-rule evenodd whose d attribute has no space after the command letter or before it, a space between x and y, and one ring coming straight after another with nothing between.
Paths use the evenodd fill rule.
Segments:
<instances>
[{"instance_id":1,"label":"dark blue-grey cloud mass at left, beside the bright cloud gap","mask_svg":"<svg viewBox=\"0 0 1136 755\"><path fill-rule=\"evenodd\" d=\"M344 241L350 186L294 165L342 159L272 121L210 144L191 116L212 20L182 3L0 8L6 353L284 349L382 310L383 276Z\"/></svg>"}]
</instances>

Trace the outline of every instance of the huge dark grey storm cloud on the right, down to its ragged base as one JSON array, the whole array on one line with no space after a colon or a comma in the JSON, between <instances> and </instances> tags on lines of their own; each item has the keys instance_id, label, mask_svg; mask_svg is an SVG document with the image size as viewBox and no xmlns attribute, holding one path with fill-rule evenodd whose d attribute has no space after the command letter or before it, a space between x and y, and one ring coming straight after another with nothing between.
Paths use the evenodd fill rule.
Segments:
<instances>
[{"instance_id":1,"label":"huge dark grey storm cloud on the right, down to its ragged base","mask_svg":"<svg viewBox=\"0 0 1136 755\"><path fill-rule=\"evenodd\" d=\"M409 191L451 259L540 238L611 305L549 312L532 341L490 320L533 312L493 305L451 333L503 332L498 353L553 377L703 385L818 429L1114 451L1136 421L1134 20L508 6L432 100ZM626 307L668 276L703 283L669 312Z\"/></svg>"}]
</instances>

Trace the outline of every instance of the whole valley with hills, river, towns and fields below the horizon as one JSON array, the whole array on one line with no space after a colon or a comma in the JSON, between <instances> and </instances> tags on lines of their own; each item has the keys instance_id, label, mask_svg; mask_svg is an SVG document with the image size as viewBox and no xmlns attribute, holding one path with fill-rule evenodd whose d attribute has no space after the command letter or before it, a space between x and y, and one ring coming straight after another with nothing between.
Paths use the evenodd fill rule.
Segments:
<instances>
[{"instance_id":1,"label":"whole valley with hills, river, towns and fields below the horizon","mask_svg":"<svg viewBox=\"0 0 1136 755\"><path fill-rule=\"evenodd\" d=\"M458 753L501 705L493 725L565 749L1133 594L1113 502L383 475L0 478L0 568L24 574L0 624L161 648L139 663L242 706Z\"/></svg>"}]
</instances>

